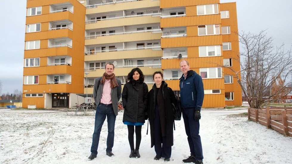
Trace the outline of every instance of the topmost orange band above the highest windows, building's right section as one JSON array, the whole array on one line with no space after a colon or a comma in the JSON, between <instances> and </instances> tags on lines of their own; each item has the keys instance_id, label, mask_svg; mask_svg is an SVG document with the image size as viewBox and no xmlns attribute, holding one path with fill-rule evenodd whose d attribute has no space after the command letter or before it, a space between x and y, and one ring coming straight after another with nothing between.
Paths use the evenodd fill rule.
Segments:
<instances>
[{"instance_id":1,"label":"topmost orange band above the highest windows, building's right section","mask_svg":"<svg viewBox=\"0 0 292 164\"><path fill-rule=\"evenodd\" d=\"M220 0L160 0L160 8L196 6L202 4L218 4Z\"/></svg>"}]
</instances>

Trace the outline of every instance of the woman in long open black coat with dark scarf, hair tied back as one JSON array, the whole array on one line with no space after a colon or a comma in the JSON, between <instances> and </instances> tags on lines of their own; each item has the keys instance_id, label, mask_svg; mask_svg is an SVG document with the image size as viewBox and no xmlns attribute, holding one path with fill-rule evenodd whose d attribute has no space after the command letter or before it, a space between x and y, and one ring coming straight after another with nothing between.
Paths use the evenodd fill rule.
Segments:
<instances>
[{"instance_id":1,"label":"woman in long open black coat with dark scarf, hair tied back","mask_svg":"<svg viewBox=\"0 0 292 164\"><path fill-rule=\"evenodd\" d=\"M176 105L173 90L167 87L160 71L154 72L155 84L147 96L147 115L150 123L151 147L154 146L154 160L164 158L170 161L171 146L173 146L173 110L171 103ZM162 144L162 146L161 146Z\"/></svg>"}]
</instances>

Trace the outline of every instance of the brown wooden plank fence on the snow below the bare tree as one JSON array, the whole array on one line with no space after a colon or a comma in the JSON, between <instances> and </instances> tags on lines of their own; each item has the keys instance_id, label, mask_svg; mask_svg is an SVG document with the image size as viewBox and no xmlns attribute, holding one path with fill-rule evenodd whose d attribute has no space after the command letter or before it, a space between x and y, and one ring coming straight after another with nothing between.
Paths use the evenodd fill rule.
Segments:
<instances>
[{"instance_id":1,"label":"brown wooden plank fence on the snow below the bare tree","mask_svg":"<svg viewBox=\"0 0 292 164\"><path fill-rule=\"evenodd\" d=\"M267 126L267 128L272 128L285 136L292 137L291 107L248 108L248 119Z\"/></svg>"}]
</instances>

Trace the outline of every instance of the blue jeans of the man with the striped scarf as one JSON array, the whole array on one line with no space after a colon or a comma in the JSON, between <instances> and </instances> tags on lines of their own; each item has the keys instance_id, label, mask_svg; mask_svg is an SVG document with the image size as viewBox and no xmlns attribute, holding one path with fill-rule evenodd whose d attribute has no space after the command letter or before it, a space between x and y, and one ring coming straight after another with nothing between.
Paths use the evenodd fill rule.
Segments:
<instances>
[{"instance_id":1,"label":"blue jeans of the man with the striped scarf","mask_svg":"<svg viewBox=\"0 0 292 164\"><path fill-rule=\"evenodd\" d=\"M108 138L106 141L106 152L112 151L114 146L114 128L116 122L116 115L114 114L113 105L99 103L96 107L95 112L95 122L94 122L94 132L92 135L92 145L91 145L91 154L97 155L97 148L100 138L100 132L102 125L107 117L108 121Z\"/></svg>"}]
</instances>

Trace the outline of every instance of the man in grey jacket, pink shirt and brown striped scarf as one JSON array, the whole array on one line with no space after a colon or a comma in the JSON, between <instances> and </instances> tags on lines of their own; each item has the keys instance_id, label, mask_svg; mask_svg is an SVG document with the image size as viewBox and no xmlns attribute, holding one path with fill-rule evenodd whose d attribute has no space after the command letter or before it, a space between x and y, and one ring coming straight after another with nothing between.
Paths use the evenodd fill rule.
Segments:
<instances>
[{"instance_id":1,"label":"man in grey jacket, pink shirt and brown striped scarf","mask_svg":"<svg viewBox=\"0 0 292 164\"><path fill-rule=\"evenodd\" d=\"M102 77L96 78L93 88L94 101L97 104L95 112L94 133L92 135L91 154L89 160L97 156L97 148L102 125L107 117L108 138L106 141L106 155L113 157L111 152L114 146L114 127L118 115L118 101L121 98L121 81L115 77L114 65L105 65L105 73Z\"/></svg>"}]
</instances>

